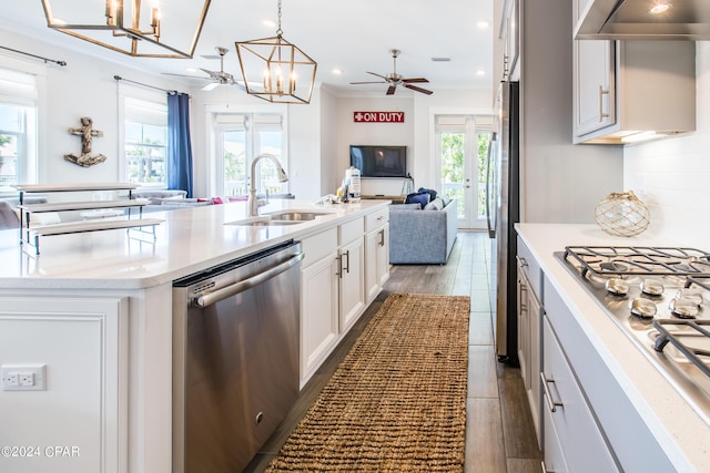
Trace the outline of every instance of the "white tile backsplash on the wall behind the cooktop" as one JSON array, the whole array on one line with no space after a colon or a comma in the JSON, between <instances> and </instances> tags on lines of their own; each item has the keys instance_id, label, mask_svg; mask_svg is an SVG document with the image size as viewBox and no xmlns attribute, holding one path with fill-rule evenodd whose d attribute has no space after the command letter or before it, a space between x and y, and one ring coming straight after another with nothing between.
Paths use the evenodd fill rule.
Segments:
<instances>
[{"instance_id":1,"label":"white tile backsplash on the wall behind the cooktop","mask_svg":"<svg viewBox=\"0 0 710 473\"><path fill-rule=\"evenodd\" d=\"M648 232L710 251L710 41L697 42L696 132L623 151L623 187L651 213Z\"/></svg>"}]
</instances>

